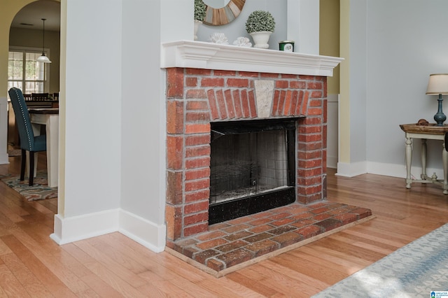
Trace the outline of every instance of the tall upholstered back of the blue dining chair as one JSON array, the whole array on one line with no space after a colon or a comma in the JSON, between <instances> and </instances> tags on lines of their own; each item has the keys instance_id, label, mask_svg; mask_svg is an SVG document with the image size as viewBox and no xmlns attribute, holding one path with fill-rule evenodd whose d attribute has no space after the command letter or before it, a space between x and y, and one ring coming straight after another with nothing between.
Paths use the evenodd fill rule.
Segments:
<instances>
[{"instance_id":1,"label":"tall upholstered back of the blue dining chair","mask_svg":"<svg viewBox=\"0 0 448 298\"><path fill-rule=\"evenodd\" d=\"M33 127L31 127L28 108L22 91L13 87L8 91L8 94L11 104L13 104L15 122L19 129L20 148L27 151L35 151Z\"/></svg>"}]
</instances>

